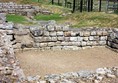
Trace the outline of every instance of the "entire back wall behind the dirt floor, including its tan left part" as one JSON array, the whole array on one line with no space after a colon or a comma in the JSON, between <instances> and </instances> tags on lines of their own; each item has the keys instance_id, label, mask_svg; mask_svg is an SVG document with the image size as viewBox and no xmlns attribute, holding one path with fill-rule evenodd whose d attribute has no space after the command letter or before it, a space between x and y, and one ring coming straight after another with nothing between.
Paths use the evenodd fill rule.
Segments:
<instances>
[{"instance_id":1,"label":"entire back wall behind the dirt floor, including its tan left part","mask_svg":"<svg viewBox=\"0 0 118 83\"><path fill-rule=\"evenodd\" d=\"M94 46L106 46L110 42L108 37L113 34L111 32L114 30L110 28L78 29L55 23L44 26L16 27L17 29L13 29L13 31L18 47L15 45L15 48L21 48L23 45L24 48L40 50L79 50Z\"/></svg>"}]
</instances>

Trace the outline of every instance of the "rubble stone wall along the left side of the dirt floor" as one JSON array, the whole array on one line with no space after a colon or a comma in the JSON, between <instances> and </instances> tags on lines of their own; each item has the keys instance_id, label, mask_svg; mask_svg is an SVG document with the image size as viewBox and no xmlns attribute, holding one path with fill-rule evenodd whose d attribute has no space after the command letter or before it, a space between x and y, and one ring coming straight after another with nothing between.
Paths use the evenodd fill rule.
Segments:
<instances>
[{"instance_id":1,"label":"rubble stone wall along the left side of the dirt floor","mask_svg":"<svg viewBox=\"0 0 118 83\"><path fill-rule=\"evenodd\" d=\"M25 75L14 56L12 46L12 34L10 30L0 30L0 82L18 83L23 82Z\"/></svg>"}]
</instances>

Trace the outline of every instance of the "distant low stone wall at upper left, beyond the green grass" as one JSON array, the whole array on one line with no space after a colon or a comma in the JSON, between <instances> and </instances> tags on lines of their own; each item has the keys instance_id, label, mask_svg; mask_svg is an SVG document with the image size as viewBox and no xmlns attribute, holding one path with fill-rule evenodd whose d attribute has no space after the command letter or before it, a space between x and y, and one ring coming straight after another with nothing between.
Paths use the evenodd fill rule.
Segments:
<instances>
[{"instance_id":1,"label":"distant low stone wall at upper left, beyond the green grass","mask_svg":"<svg viewBox=\"0 0 118 83\"><path fill-rule=\"evenodd\" d=\"M22 5L9 2L0 3L0 13L21 14L30 17L38 13L50 14L51 12L46 9L40 8L39 6L32 6L28 4Z\"/></svg>"}]
</instances>

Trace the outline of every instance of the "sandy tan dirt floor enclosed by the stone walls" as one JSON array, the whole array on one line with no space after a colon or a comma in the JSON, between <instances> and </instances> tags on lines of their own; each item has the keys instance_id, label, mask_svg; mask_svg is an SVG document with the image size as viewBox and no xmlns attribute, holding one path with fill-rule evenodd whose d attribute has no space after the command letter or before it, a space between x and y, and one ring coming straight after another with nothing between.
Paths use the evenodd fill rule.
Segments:
<instances>
[{"instance_id":1,"label":"sandy tan dirt floor enclosed by the stone walls","mask_svg":"<svg viewBox=\"0 0 118 83\"><path fill-rule=\"evenodd\" d=\"M118 53L105 47L80 51L24 51L16 53L26 75L56 74L118 66Z\"/></svg>"}]
</instances>

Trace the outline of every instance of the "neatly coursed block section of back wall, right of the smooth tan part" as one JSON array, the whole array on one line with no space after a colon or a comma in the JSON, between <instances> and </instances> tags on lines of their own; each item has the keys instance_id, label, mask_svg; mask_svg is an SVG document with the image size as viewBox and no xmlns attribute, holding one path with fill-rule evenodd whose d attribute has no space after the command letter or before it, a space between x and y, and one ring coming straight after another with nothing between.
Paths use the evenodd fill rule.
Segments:
<instances>
[{"instance_id":1,"label":"neatly coursed block section of back wall, right of the smooth tan part","mask_svg":"<svg viewBox=\"0 0 118 83\"><path fill-rule=\"evenodd\" d=\"M107 29L73 29L62 25L47 25L30 31L34 39L34 47L53 50L78 50L104 46L108 35Z\"/></svg>"}]
</instances>

